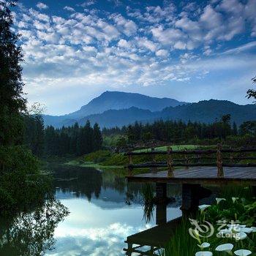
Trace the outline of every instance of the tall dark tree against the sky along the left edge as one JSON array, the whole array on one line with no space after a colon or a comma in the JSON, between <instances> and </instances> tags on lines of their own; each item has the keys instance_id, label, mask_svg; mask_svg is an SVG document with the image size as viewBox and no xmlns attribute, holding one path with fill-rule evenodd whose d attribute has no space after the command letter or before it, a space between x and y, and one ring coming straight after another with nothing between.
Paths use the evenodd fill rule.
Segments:
<instances>
[{"instance_id":1,"label":"tall dark tree against the sky along the left edge","mask_svg":"<svg viewBox=\"0 0 256 256\"><path fill-rule=\"evenodd\" d=\"M0 145L13 145L23 140L23 118L26 110L21 79L23 61L18 34L11 30L10 7L16 1L0 1Z\"/></svg>"}]
</instances>

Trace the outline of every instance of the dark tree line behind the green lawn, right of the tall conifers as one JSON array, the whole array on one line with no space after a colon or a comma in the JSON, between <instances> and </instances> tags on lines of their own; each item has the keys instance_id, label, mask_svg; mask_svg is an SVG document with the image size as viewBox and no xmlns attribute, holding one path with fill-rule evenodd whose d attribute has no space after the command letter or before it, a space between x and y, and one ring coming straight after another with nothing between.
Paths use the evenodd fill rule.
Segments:
<instances>
[{"instance_id":1,"label":"dark tree line behind the green lawn, right of the tall conifers","mask_svg":"<svg viewBox=\"0 0 256 256\"><path fill-rule=\"evenodd\" d=\"M228 136L244 136L246 134L256 135L255 121L246 121L241 124L239 129L234 122L230 125L230 115L222 116L220 121L214 121L211 124L203 124L198 122L184 121L154 121L153 124L141 124L135 122L129 126L121 128L104 128L103 135L116 135L119 138L121 135L127 137L127 143L148 143L150 140L159 140L169 143L186 143L186 142L202 142L209 140L211 143L219 143L228 141Z\"/></svg>"}]
</instances>

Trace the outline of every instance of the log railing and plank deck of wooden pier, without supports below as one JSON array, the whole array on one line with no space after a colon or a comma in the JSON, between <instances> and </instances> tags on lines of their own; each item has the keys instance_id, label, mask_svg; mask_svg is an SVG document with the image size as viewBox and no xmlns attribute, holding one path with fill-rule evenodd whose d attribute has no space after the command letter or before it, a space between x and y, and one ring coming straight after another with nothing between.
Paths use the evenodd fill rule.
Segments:
<instances>
[{"instance_id":1,"label":"log railing and plank deck of wooden pier, without supports below","mask_svg":"<svg viewBox=\"0 0 256 256\"><path fill-rule=\"evenodd\" d=\"M249 182L249 184L255 184L256 157L246 156L247 153L252 152L256 152L256 148L222 149L220 144L217 145L216 150L172 151L172 148L168 147L167 151L153 149L147 152L129 152L127 153L129 157L127 178L128 181L134 182L181 184ZM151 162L133 164L132 157L141 155L147 155L151 158ZM157 155L165 155L165 160L157 162ZM158 172L159 167L166 170ZM178 170L175 170L175 167L179 167ZM132 171L136 168L150 168L151 172L132 175Z\"/></svg>"}]
</instances>

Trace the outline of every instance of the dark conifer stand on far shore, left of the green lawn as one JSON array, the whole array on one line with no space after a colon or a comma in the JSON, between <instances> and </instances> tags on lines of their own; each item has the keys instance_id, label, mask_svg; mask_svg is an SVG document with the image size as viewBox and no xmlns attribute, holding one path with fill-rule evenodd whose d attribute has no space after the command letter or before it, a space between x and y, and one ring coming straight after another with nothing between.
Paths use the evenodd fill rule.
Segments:
<instances>
[{"instance_id":1,"label":"dark conifer stand on far shore, left of the green lawn","mask_svg":"<svg viewBox=\"0 0 256 256\"><path fill-rule=\"evenodd\" d=\"M102 133L97 123L91 127L89 121L83 127L78 123L71 127L44 127L42 116L25 116L23 143L37 157L67 155L81 156L102 148Z\"/></svg>"}]
</instances>

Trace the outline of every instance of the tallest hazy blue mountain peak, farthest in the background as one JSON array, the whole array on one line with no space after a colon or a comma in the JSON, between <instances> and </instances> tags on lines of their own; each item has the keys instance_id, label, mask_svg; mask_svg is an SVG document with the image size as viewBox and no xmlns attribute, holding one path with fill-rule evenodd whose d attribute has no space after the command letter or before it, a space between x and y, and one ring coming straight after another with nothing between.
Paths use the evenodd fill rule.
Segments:
<instances>
[{"instance_id":1,"label":"tallest hazy blue mountain peak, farthest in the background","mask_svg":"<svg viewBox=\"0 0 256 256\"><path fill-rule=\"evenodd\" d=\"M103 94L92 99L87 105L83 105L80 110L64 116L44 116L45 125L61 127L71 124L73 121L84 118L92 114L103 113L106 110L123 110L132 107L143 110L159 111L167 107L188 104L179 102L176 99L149 97L143 94L127 93L121 91L105 91Z\"/></svg>"}]
</instances>

